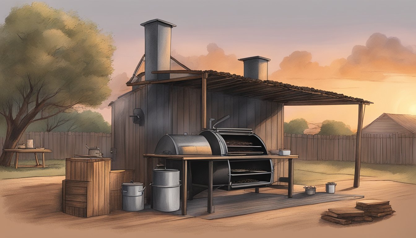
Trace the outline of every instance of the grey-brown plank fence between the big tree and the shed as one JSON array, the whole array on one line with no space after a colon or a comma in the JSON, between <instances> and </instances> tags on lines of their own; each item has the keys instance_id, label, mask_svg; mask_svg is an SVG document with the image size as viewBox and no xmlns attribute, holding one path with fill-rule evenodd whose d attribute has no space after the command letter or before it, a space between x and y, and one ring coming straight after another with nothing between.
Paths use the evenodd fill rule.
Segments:
<instances>
[{"instance_id":1,"label":"grey-brown plank fence between the big tree and the shed","mask_svg":"<svg viewBox=\"0 0 416 238\"><path fill-rule=\"evenodd\" d=\"M109 157L111 148L111 133L85 133L85 132L29 132L20 138L19 144L26 143L26 139L33 139L35 147L51 149L52 153L45 153L45 159L65 159L73 155L88 154L85 147L97 146L104 157ZM3 149L4 138L0 138L0 151ZM35 155L22 153L19 159L33 159Z\"/></svg>"}]
</instances>

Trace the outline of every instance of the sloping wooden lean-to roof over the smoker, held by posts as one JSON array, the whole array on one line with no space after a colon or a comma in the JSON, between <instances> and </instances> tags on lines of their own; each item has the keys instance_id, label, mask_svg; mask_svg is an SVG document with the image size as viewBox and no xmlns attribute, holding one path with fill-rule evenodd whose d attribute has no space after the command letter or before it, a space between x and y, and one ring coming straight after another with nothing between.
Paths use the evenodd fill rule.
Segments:
<instances>
[{"instance_id":1,"label":"sloping wooden lean-to roof over the smoker, held by posts","mask_svg":"<svg viewBox=\"0 0 416 238\"><path fill-rule=\"evenodd\" d=\"M206 90L213 93L223 93L247 98L258 98L260 100L293 105L343 105L360 104L369 105L372 102L361 98L353 98L343 94L317 90L308 87L299 87L287 83L272 80L258 80L245 78L240 75L217 72L213 70L163 70L152 73L169 73L170 79L145 80L126 84L128 86L146 84L173 84L180 87L202 88L203 78L206 78ZM173 77L177 75L178 77ZM204 76L205 75L205 76ZM144 76L144 72L137 78Z\"/></svg>"}]
</instances>

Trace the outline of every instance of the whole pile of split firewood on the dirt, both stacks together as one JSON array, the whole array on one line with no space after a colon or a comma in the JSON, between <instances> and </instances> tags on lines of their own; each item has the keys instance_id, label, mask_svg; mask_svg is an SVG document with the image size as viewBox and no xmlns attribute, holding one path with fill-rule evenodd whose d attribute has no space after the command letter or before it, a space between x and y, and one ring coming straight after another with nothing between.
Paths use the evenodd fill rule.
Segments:
<instances>
[{"instance_id":1,"label":"whole pile of split firewood on the dirt, both stacks together","mask_svg":"<svg viewBox=\"0 0 416 238\"><path fill-rule=\"evenodd\" d=\"M321 218L341 225L351 224L353 221L372 221L372 217L381 217L394 213L389 201L360 200L355 208L329 208Z\"/></svg>"}]
</instances>

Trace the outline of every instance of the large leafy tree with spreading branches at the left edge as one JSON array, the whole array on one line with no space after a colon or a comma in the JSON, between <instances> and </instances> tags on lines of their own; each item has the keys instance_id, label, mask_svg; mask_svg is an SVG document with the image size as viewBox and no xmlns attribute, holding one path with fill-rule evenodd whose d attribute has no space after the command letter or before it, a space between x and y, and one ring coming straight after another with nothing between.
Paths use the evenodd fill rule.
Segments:
<instances>
[{"instance_id":1,"label":"large leafy tree with spreading branches at the left edge","mask_svg":"<svg viewBox=\"0 0 416 238\"><path fill-rule=\"evenodd\" d=\"M30 123L105 100L114 50L111 35L75 13L45 3L12 8L0 26L4 148L15 148ZM0 165L9 166L11 158L3 152Z\"/></svg>"}]
</instances>

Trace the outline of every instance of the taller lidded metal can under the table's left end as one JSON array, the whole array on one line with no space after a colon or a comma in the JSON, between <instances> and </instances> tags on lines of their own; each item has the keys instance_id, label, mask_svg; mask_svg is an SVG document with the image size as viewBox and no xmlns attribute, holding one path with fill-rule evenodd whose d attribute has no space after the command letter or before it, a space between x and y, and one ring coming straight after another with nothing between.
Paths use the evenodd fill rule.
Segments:
<instances>
[{"instance_id":1,"label":"taller lidded metal can under the table's left end","mask_svg":"<svg viewBox=\"0 0 416 238\"><path fill-rule=\"evenodd\" d=\"M163 212L179 210L181 193L179 170L154 169L153 182L150 185L152 186L153 209Z\"/></svg>"}]
</instances>

